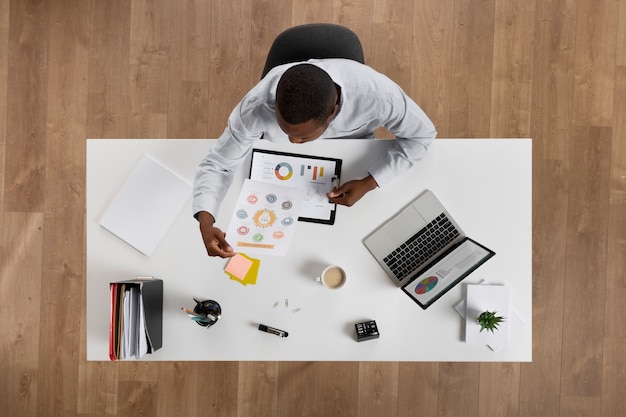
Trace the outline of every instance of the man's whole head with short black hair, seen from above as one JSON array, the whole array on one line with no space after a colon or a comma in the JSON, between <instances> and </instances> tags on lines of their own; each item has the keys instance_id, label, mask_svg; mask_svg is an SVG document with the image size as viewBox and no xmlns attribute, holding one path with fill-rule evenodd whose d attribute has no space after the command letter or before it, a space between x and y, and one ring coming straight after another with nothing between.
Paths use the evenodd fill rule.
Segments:
<instances>
[{"instance_id":1,"label":"man's whole head with short black hair, seen from above","mask_svg":"<svg viewBox=\"0 0 626 417\"><path fill-rule=\"evenodd\" d=\"M337 86L321 68L298 64L285 71L276 88L276 119L294 143L317 139L338 108Z\"/></svg>"}]
</instances>

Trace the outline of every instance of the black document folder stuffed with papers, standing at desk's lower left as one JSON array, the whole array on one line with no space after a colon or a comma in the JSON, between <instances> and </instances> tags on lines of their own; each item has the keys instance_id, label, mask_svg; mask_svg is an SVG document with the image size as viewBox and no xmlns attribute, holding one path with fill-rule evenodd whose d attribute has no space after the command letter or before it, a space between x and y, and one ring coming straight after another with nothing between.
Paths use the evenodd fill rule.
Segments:
<instances>
[{"instance_id":1,"label":"black document folder stuffed with papers, standing at desk's lower left","mask_svg":"<svg viewBox=\"0 0 626 417\"><path fill-rule=\"evenodd\" d=\"M163 345L163 281L152 277L112 282L109 358L153 353Z\"/></svg>"}]
</instances>

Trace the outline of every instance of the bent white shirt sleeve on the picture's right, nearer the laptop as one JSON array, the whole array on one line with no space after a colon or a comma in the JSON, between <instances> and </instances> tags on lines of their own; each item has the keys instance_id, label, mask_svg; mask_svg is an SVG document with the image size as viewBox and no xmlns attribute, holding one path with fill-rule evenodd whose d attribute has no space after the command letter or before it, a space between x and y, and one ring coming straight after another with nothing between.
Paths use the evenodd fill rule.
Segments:
<instances>
[{"instance_id":1,"label":"bent white shirt sleeve on the picture's right, nearer the laptop","mask_svg":"<svg viewBox=\"0 0 626 417\"><path fill-rule=\"evenodd\" d=\"M382 187L406 172L424 157L428 147L437 136L435 126L426 113L395 85L383 109L383 126L396 136L389 151L369 170L370 175Z\"/></svg>"}]
</instances>

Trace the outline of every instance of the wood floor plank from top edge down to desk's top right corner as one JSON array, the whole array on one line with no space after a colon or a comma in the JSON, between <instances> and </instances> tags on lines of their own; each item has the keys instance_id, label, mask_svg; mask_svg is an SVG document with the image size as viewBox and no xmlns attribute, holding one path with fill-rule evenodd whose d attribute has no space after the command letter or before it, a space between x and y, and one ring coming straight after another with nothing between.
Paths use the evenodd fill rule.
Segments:
<instances>
[{"instance_id":1,"label":"wood floor plank from top edge down to desk's top right corner","mask_svg":"<svg viewBox=\"0 0 626 417\"><path fill-rule=\"evenodd\" d=\"M496 0L491 137L529 137L535 1Z\"/></svg>"}]
</instances>

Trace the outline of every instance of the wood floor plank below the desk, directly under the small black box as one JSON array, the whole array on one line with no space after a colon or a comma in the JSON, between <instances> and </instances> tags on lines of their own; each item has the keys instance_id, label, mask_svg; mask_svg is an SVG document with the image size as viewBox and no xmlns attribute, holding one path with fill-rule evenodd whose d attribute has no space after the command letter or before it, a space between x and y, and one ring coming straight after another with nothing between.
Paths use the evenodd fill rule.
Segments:
<instances>
[{"instance_id":1,"label":"wood floor plank below the desk, directly under the small black box","mask_svg":"<svg viewBox=\"0 0 626 417\"><path fill-rule=\"evenodd\" d=\"M397 414L398 371L397 362L359 364L359 417Z\"/></svg>"}]
</instances>

